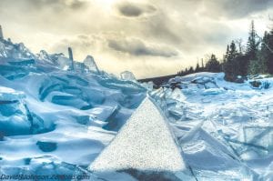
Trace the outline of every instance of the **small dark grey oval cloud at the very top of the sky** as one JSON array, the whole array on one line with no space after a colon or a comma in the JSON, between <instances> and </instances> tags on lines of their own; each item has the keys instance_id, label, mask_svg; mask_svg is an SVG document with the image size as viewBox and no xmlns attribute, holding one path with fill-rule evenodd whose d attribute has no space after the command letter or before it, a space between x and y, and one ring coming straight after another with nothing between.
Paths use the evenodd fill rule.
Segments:
<instances>
[{"instance_id":1,"label":"small dark grey oval cloud at the very top of the sky","mask_svg":"<svg viewBox=\"0 0 273 181\"><path fill-rule=\"evenodd\" d=\"M116 8L120 15L125 15L129 17L149 14L157 10L157 8L154 7L153 5L144 5L129 2L120 3L116 5Z\"/></svg>"}]
</instances>

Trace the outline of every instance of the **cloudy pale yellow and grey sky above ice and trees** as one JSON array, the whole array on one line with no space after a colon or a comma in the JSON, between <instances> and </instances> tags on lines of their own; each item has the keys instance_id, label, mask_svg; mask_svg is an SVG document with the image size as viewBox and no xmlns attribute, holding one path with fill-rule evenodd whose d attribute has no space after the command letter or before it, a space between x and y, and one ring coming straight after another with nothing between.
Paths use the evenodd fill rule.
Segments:
<instances>
[{"instance_id":1,"label":"cloudy pale yellow and grey sky above ice and trees","mask_svg":"<svg viewBox=\"0 0 273 181\"><path fill-rule=\"evenodd\" d=\"M270 28L273 0L1 0L5 37L31 51L92 55L99 69L137 78L172 75Z\"/></svg>"}]
</instances>

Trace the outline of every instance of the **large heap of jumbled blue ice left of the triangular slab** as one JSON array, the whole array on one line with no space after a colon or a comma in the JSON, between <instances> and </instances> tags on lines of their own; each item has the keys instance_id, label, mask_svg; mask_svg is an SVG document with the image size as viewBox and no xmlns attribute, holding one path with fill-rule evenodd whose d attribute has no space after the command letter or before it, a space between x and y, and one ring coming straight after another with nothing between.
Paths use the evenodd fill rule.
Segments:
<instances>
[{"instance_id":1,"label":"large heap of jumbled blue ice left of the triangular slab","mask_svg":"<svg viewBox=\"0 0 273 181\"><path fill-rule=\"evenodd\" d=\"M94 74L83 63L70 70L62 54L27 56L23 45L0 42L0 175L89 173L86 167L147 89L103 71ZM89 180L135 180L125 173L99 177Z\"/></svg>"}]
</instances>

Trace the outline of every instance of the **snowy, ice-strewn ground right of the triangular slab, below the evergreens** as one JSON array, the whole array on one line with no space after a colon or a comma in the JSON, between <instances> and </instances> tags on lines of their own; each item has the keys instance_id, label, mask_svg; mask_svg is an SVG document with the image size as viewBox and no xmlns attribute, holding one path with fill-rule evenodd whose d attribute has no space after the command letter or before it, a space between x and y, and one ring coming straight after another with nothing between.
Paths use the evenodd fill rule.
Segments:
<instances>
[{"instance_id":1,"label":"snowy, ice-strewn ground right of the triangular slab, below the evergreens","mask_svg":"<svg viewBox=\"0 0 273 181\"><path fill-rule=\"evenodd\" d=\"M271 180L273 78L267 89L197 73L169 80L151 93L175 130L197 179ZM173 87L174 88L174 87Z\"/></svg>"}]
</instances>

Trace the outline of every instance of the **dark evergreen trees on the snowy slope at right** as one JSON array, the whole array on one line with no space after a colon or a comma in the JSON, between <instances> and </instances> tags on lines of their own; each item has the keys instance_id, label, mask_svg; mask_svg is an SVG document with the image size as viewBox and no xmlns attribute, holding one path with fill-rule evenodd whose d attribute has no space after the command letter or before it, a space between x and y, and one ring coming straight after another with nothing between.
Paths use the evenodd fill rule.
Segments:
<instances>
[{"instance_id":1,"label":"dark evergreen trees on the snowy slope at right","mask_svg":"<svg viewBox=\"0 0 273 181\"><path fill-rule=\"evenodd\" d=\"M227 52L219 60L212 54L197 63L181 70L177 75L188 75L197 72L224 72L225 79L232 82L241 82L247 75L268 74L273 75L273 28L259 37L254 21L251 22L248 43L243 48L241 39L232 41L227 45Z\"/></svg>"}]
</instances>

